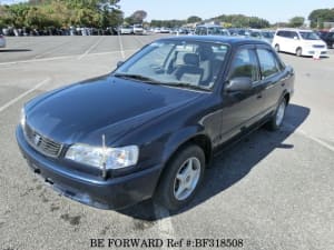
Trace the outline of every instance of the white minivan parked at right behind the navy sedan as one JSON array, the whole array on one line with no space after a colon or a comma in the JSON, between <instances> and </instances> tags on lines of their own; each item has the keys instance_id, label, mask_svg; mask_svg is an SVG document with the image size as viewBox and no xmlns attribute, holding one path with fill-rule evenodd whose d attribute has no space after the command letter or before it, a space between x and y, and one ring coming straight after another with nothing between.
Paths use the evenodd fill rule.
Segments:
<instances>
[{"instance_id":1,"label":"white minivan parked at right behind the navy sedan","mask_svg":"<svg viewBox=\"0 0 334 250\"><path fill-rule=\"evenodd\" d=\"M278 29L272 46L277 52L295 53L297 57L327 54L326 43L312 30Z\"/></svg>"}]
</instances>

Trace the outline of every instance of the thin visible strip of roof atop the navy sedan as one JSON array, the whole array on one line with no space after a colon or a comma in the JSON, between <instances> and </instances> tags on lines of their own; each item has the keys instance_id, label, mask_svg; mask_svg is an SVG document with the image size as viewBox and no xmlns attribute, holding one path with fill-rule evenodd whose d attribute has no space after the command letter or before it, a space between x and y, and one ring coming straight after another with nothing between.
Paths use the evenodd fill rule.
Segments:
<instances>
[{"instance_id":1,"label":"thin visible strip of roof atop the navy sedan","mask_svg":"<svg viewBox=\"0 0 334 250\"><path fill-rule=\"evenodd\" d=\"M197 42L218 42L227 43L230 46L240 46L240 44L265 44L267 42L252 39L252 38L240 38L240 37L229 37L229 36L179 36L179 37L169 37L159 39L159 41L174 40L174 41L197 41Z\"/></svg>"}]
</instances>

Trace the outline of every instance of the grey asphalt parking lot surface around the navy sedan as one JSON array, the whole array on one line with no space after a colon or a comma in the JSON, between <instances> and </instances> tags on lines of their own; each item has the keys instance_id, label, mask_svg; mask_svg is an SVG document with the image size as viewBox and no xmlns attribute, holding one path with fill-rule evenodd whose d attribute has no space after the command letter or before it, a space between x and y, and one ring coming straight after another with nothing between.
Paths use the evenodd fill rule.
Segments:
<instances>
[{"instance_id":1,"label":"grey asphalt parking lot surface around the navy sedan","mask_svg":"<svg viewBox=\"0 0 334 250\"><path fill-rule=\"evenodd\" d=\"M132 238L334 249L333 50L321 60L281 53L296 71L283 128L261 129L224 151L197 198L178 213L150 201L121 211L90 208L59 197L28 168L14 139L24 102L106 74L161 36L7 38L0 49L0 250L95 249L91 239Z\"/></svg>"}]
</instances>

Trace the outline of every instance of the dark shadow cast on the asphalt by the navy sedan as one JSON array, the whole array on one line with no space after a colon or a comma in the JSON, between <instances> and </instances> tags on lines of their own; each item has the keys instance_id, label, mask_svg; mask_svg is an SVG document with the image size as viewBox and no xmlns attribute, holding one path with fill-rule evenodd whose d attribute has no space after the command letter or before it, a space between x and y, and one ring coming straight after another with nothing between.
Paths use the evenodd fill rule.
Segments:
<instances>
[{"instance_id":1,"label":"dark shadow cast on the asphalt by the navy sedan","mask_svg":"<svg viewBox=\"0 0 334 250\"><path fill-rule=\"evenodd\" d=\"M281 130L271 132L262 128L223 150L214 159L210 168L206 169L203 184L195 199L183 210L169 213L151 200L147 200L118 212L139 220L155 221L193 209L242 180L273 150L277 148L292 150L294 146L284 141L305 121L310 112L306 107L289 104Z\"/></svg>"}]
</instances>

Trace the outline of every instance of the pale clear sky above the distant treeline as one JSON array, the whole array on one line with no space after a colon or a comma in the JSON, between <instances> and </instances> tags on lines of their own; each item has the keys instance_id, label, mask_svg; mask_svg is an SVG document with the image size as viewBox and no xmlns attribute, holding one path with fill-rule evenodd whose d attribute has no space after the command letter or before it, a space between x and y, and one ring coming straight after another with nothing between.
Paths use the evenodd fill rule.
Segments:
<instances>
[{"instance_id":1,"label":"pale clear sky above the distant treeline","mask_svg":"<svg viewBox=\"0 0 334 250\"><path fill-rule=\"evenodd\" d=\"M0 3L13 3L19 0L0 0ZM242 13L258 17L269 22L288 21L291 18L302 16L307 19L312 10L334 8L333 0L120 0L125 17L136 10L145 10L151 19L187 19L198 16L203 19L219 14Z\"/></svg>"}]
</instances>

